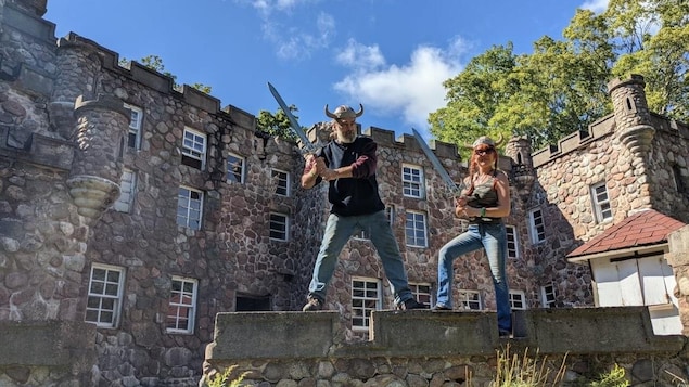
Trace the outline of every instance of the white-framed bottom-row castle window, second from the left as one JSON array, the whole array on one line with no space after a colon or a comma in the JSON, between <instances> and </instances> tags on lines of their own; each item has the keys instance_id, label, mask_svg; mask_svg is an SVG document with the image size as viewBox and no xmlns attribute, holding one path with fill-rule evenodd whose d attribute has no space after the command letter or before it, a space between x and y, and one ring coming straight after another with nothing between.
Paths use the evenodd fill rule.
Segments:
<instances>
[{"instance_id":1,"label":"white-framed bottom-row castle window, second from the left","mask_svg":"<svg viewBox=\"0 0 689 387\"><path fill-rule=\"evenodd\" d=\"M193 279L173 276L173 292L165 326L169 333L193 333L196 315L196 284Z\"/></svg>"}]
</instances>

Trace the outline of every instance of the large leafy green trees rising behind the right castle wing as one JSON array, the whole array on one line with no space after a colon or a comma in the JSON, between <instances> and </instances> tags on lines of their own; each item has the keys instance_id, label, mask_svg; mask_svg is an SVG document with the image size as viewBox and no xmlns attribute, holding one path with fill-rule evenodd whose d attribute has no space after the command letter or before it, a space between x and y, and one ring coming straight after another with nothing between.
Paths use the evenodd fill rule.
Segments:
<instances>
[{"instance_id":1,"label":"large leafy green trees rising behind the right castle wing","mask_svg":"<svg viewBox=\"0 0 689 387\"><path fill-rule=\"evenodd\" d=\"M641 74L652 111L689 115L689 2L610 0L602 14L577 10L563 39L544 36L531 54L494 46L448 79L447 105L431 132L459 145L479 136L528 136L538 149L612 111L608 82Z\"/></svg>"}]
</instances>

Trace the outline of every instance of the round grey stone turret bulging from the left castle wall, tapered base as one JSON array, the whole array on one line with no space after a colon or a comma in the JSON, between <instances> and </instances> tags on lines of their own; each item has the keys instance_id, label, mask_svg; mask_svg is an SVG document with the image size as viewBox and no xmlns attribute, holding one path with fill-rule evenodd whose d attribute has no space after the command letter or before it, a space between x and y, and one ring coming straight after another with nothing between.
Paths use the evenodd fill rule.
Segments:
<instances>
[{"instance_id":1,"label":"round grey stone turret bulging from the left castle wall, tapered base","mask_svg":"<svg viewBox=\"0 0 689 387\"><path fill-rule=\"evenodd\" d=\"M67 185L77 212L95 220L119 196L129 112L110 95L75 105L78 149Z\"/></svg>"}]
</instances>

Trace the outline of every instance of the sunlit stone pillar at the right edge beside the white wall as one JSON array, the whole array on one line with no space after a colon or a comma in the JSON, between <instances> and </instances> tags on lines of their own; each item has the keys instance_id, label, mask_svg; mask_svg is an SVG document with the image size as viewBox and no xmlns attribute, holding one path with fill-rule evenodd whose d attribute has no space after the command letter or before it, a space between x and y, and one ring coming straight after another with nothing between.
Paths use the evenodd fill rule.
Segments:
<instances>
[{"instance_id":1,"label":"sunlit stone pillar at the right edge beside the white wall","mask_svg":"<svg viewBox=\"0 0 689 387\"><path fill-rule=\"evenodd\" d=\"M667 236L669 251L665 254L667 263L673 267L677 287L675 297L679 301L679 319L684 326L681 333L689 336L689 225Z\"/></svg>"}]
</instances>

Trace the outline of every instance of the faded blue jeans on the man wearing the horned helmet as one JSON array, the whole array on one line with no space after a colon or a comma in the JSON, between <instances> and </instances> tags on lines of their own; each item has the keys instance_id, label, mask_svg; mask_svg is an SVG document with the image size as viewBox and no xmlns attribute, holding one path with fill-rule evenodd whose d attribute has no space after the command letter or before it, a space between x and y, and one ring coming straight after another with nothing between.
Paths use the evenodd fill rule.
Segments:
<instances>
[{"instance_id":1,"label":"faded blue jeans on the man wearing the horned helmet","mask_svg":"<svg viewBox=\"0 0 689 387\"><path fill-rule=\"evenodd\" d=\"M314 266L314 276L308 286L309 295L321 300L326 299L327 287L335 270L337 257L349 237L360 230L365 230L369 234L371 243L381 257L385 276L395 295L395 305L412 298L399 246L384 210L349 217L330 214L320 251Z\"/></svg>"}]
</instances>

